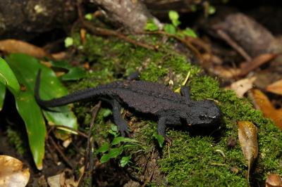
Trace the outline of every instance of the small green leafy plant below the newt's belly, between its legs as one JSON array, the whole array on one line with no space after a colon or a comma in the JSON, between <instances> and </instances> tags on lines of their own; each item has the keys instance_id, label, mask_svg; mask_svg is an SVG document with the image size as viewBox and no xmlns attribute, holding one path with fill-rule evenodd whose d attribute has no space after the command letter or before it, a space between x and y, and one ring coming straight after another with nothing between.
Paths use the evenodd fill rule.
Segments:
<instances>
[{"instance_id":1,"label":"small green leafy plant below the newt's belly, between its legs","mask_svg":"<svg viewBox=\"0 0 282 187\"><path fill-rule=\"evenodd\" d=\"M102 153L102 157L100 158L100 162L102 163L108 162L111 158L117 158L118 156L122 155L125 150L128 150L129 155L121 157L120 161L121 167L125 167L125 165L130 163L130 159L134 153L145 150L145 147L135 139L119 136L118 128L114 124L111 125L109 134L114 135L113 141L111 141L111 143L104 143L99 149L96 150L96 155Z\"/></svg>"}]
</instances>

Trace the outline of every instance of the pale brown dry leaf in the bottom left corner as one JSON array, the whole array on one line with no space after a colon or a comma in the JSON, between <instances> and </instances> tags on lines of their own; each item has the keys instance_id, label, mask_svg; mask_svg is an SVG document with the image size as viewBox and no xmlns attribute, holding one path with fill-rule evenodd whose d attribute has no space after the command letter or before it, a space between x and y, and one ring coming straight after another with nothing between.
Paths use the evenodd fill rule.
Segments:
<instances>
[{"instance_id":1,"label":"pale brown dry leaf in the bottom left corner","mask_svg":"<svg viewBox=\"0 0 282 187\"><path fill-rule=\"evenodd\" d=\"M0 186L26 186L30 170L23 169L23 162L7 155L0 155Z\"/></svg>"}]
</instances>

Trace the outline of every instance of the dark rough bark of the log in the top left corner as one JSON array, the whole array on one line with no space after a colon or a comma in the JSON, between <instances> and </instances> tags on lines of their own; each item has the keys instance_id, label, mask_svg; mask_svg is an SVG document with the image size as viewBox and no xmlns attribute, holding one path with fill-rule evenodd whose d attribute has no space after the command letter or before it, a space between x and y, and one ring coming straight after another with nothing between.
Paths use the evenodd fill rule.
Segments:
<instances>
[{"instance_id":1,"label":"dark rough bark of the log in the top left corner","mask_svg":"<svg viewBox=\"0 0 282 187\"><path fill-rule=\"evenodd\" d=\"M71 25L77 18L73 0L1 0L0 39L32 39Z\"/></svg>"}]
</instances>

